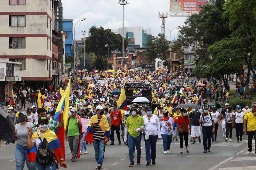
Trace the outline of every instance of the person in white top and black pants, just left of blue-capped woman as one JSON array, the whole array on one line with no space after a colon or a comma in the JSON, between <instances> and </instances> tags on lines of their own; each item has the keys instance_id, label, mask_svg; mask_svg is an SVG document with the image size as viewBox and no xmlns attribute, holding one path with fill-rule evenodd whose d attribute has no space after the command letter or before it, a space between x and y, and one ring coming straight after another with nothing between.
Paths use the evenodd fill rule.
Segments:
<instances>
[{"instance_id":1,"label":"person in white top and black pants, just left of blue-capped woman","mask_svg":"<svg viewBox=\"0 0 256 170\"><path fill-rule=\"evenodd\" d=\"M233 129L232 124L233 124L233 119L235 117L235 114L234 114L234 112L232 112L230 106L228 106L225 114L226 114L226 119L225 119L225 122L226 122L226 126L225 126L225 128L226 128L226 139L225 139L225 141L228 142L228 135L229 135L229 142L231 142L232 141L231 140L231 138L232 138L232 129Z\"/></svg>"}]
</instances>

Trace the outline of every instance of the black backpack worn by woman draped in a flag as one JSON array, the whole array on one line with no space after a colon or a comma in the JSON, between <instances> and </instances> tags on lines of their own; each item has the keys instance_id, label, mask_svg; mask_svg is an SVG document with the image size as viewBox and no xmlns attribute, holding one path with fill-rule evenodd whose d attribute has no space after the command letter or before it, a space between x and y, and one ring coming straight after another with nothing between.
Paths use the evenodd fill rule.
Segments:
<instances>
[{"instance_id":1,"label":"black backpack worn by woman draped in a flag","mask_svg":"<svg viewBox=\"0 0 256 170\"><path fill-rule=\"evenodd\" d=\"M42 141L39 137L41 143L38 146L36 151L36 162L39 164L52 164L53 162L53 153L47 142L46 138Z\"/></svg>"}]
</instances>

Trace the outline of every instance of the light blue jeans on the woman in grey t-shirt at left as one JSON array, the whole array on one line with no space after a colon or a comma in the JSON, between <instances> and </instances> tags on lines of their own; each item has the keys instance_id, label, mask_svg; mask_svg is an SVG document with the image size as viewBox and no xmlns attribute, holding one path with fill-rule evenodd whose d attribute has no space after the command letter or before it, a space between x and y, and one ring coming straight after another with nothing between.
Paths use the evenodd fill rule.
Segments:
<instances>
[{"instance_id":1,"label":"light blue jeans on the woman in grey t-shirt at left","mask_svg":"<svg viewBox=\"0 0 256 170\"><path fill-rule=\"evenodd\" d=\"M16 161L16 169L23 170L25 161L29 170L35 169L34 162L28 162L28 147L16 144L15 147L15 161Z\"/></svg>"}]
</instances>

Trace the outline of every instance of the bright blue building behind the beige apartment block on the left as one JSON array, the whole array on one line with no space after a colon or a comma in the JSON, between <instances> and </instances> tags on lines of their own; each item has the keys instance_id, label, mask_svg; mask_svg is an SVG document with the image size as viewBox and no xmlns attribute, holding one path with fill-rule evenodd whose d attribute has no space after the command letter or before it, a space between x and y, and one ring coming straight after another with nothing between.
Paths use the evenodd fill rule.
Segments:
<instances>
[{"instance_id":1,"label":"bright blue building behind the beige apartment block on the left","mask_svg":"<svg viewBox=\"0 0 256 170\"><path fill-rule=\"evenodd\" d=\"M73 57L73 19L63 19L63 33L65 34L65 57Z\"/></svg>"}]
</instances>

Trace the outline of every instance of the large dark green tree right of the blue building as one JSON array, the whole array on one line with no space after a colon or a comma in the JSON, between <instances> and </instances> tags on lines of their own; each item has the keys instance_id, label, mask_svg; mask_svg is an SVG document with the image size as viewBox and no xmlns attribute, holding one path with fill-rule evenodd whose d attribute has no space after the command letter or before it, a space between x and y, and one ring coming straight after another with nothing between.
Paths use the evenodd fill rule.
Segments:
<instances>
[{"instance_id":1,"label":"large dark green tree right of the blue building","mask_svg":"<svg viewBox=\"0 0 256 170\"><path fill-rule=\"evenodd\" d=\"M109 56L115 51L122 52L123 38L120 34L115 34L111 32L111 29L104 29L103 27L91 27L91 36L85 40L85 51L87 53L93 52L97 58L93 58L96 69L105 70L107 68L108 59L108 48ZM105 47L109 44L109 47ZM124 39L124 51L128 45L127 38ZM93 67L94 68L94 67Z\"/></svg>"}]
</instances>

